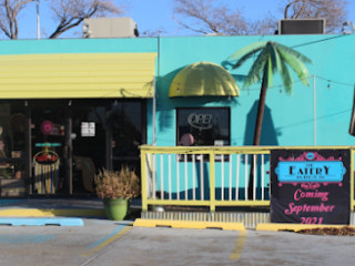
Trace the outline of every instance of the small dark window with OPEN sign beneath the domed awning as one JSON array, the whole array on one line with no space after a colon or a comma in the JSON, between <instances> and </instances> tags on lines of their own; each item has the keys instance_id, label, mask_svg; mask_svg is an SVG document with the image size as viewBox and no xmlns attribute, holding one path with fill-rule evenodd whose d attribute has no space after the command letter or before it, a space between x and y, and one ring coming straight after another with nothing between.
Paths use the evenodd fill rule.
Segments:
<instances>
[{"instance_id":1,"label":"small dark window with OPEN sign beneath the domed awning","mask_svg":"<svg viewBox=\"0 0 355 266\"><path fill-rule=\"evenodd\" d=\"M230 145L229 108L181 108L176 110L176 145Z\"/></svg>"}]
</instances>

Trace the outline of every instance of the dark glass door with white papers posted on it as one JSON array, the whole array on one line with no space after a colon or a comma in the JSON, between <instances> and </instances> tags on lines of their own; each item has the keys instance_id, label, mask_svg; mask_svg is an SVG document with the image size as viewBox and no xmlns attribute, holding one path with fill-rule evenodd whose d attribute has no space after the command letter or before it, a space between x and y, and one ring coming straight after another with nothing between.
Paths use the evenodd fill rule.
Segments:
<instances>
[{"instance_id":1,"label":"dark glass door with white papers posted on it","mask_svg":"<svg viewBox=\"0 0 355 266\"><path fill-rule=\"evenodd\" d=\"M94 175L108 168L106 140L110 100L72 102L73 194L94 194Z\"/></svg>"}]
</instances>

